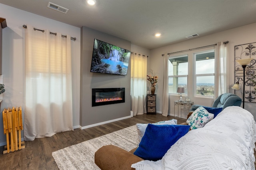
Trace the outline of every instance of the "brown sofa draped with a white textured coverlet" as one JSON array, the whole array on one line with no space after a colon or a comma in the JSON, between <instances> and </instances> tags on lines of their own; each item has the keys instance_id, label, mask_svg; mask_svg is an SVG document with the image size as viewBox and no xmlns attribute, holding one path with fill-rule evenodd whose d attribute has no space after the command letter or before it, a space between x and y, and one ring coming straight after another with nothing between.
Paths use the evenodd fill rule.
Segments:
<instances>
[{"instance_id":1,"label":"brown sofa draped with a white textured coverlet","mask_svg":"<svg viewBox=\"0 0 256 170\"><path fill-rule=\"evenodd\" d=\"M133 154L136 149L128 152L114 145L98 149L94 159L101 170L255 170L255 141L253 115L230 106L178 139L160 160L143 160Z\"/></svg>"}]
</instances>

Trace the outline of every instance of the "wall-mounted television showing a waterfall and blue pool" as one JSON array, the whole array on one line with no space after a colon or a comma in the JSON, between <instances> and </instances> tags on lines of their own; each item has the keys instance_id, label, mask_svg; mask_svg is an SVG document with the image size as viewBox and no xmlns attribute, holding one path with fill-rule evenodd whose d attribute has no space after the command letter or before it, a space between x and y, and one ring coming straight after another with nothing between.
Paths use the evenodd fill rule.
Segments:
<instances>
[{"instance_id":1,"label":"wall-mounted television showing a waterfall and blue pool","mask_svg":"<svg viewBox=\"0 0 256 170\"><path fill-rule=\"evenodd\" d=\"M126 75L131 52L94 39L90 72Z\"/></svg>"}]
</instances>

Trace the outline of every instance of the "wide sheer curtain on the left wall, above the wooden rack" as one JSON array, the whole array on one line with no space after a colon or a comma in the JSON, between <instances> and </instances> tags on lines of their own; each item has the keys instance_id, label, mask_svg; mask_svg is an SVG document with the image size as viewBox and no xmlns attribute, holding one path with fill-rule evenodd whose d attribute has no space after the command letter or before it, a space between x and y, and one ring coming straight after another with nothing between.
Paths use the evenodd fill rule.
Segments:
<instances>
[{"instance_id":1,"label":"wide sheer curtain on the left wall, above the wooden rack","mask_svg":"<svg viewBox=\"0 0 256 170\"><path fill-rule=\"evenodd\" d=\"M73 130L70 35L26 29L24 139Z\"/></svg>"}]
</instances>

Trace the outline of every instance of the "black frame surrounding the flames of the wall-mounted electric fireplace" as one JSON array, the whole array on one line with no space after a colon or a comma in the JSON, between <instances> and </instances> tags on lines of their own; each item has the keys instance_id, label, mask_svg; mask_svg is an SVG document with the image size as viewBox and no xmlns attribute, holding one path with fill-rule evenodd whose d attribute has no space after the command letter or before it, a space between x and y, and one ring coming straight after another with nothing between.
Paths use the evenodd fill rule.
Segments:
<instances>
[{"instance_id":1,"label":"black frame surrounding the flames of the wall-mounted electric fireplace","mask_svg":"<svg viewBox=\"0 0 256 170\"><path fill-rule=\"evenodd\" d=\"M121 92L122 100L112 100L106 102L96 102L97 92ZM125 102L125 88L92 88L92 107L108 104L118 104Z\"/></svg>"}]
</instances>

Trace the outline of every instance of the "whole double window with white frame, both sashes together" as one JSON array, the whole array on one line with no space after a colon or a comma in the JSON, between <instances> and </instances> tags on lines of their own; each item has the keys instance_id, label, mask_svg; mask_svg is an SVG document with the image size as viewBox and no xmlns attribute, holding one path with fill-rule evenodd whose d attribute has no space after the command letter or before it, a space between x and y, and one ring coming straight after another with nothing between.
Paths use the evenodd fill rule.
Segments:
<instances>
[{"instance_id":1,"label":"whole double window with white frame, both sashes together","mask_svg":"<svg viewBox=\"0 0 256 170\"><path fill-rule=\"evenodd\" d=\"M177 94L177 88L184 87L185 95L213 97L214 47L186 53L168 59L168 92Z\"/></svg>"}]
</instances>

